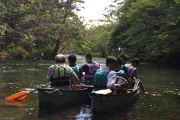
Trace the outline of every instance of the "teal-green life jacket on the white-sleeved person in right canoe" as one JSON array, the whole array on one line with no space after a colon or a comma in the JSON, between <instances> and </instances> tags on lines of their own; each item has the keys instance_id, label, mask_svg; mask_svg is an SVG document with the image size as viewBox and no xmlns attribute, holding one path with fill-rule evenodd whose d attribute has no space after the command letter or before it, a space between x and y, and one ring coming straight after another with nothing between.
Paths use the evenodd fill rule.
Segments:
<instances>
[{"instance_id":1,"label":"teal-green life jacket on the white-sleeved person in right canoe","mask_svg":"<svg viewBox=\"0 0 180 120\"><path fill-rule=\"evenodd\" d=\"M111 69L108 69L104 72L99 72L99 70L96 71L94 76L94 90L101 90L107 88L107 75L109 72L112 71Z\"/></svg>"}]
</instances>

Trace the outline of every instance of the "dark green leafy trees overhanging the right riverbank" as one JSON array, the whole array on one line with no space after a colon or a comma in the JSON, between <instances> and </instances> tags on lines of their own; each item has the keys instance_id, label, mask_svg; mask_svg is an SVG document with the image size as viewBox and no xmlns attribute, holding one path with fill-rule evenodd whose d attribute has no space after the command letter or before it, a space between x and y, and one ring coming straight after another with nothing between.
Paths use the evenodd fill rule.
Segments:
<instances>
[{"instance_id":1,"label":"dark green leafy trees overhanging the right riverbank","mask_svg":"<svg viewBox=\"0 0 180 120\"><path fill-rule=\"evenodd\" d=\"M118 9L112 48L150 62L180 60L180 1L125 0Z\"/></svg>"}]
</instances>

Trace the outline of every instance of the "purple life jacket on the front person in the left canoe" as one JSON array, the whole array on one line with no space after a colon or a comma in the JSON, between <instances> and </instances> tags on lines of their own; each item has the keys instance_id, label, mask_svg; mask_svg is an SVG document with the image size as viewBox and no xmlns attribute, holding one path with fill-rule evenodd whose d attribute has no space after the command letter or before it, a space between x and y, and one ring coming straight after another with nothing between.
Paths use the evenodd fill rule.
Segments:
<instances>
[{"instance_id":1,"label":"purple life jacket on the front person in the left canoe","mask_svg":"<svg viewBox=\"0 0 180 120\"><path fill-rule=\"evenodd\" d=\"M87 63L86 65L89 68L89 73L86 73L85 78L92 79L93 78L93 70L99 69L99 65L97 63Z\"/></svg>"}]
</instances>

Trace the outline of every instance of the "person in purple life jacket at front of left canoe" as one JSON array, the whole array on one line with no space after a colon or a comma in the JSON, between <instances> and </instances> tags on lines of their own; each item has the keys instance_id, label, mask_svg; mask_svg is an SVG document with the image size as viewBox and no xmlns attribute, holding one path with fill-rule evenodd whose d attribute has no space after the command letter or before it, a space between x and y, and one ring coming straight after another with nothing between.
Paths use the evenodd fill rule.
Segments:
<instances>
[{"instance_id":1,"label":"person in purple life jacket at front of left canoe","mask_svg":"<svg viewBox=\"0 0 180 120\"><path fill-rule=\"evenodd\" d=\"M80 68L80 76L83 76L83 72L85 72L85 80L88 82L89 85L92 84L93 78L93 70L99 69L99 64L92 61L92 55L87 53L85 55L86 64Z\"/></svg>"}]
</instances>

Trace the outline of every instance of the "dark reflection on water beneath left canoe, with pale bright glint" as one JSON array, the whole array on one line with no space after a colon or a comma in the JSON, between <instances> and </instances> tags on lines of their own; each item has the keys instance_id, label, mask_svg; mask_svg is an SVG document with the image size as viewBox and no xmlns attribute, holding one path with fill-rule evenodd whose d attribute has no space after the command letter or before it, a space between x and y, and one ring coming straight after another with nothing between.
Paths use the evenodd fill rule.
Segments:
<instances>
[{"instance_id":1,"label":"dark reflection on water beneath left canoe, with pale bright glint","mask_svg":"<svg viewBox=\"0 0 180 120\"><path fill-rule=\"evenodd\" d=\"M90 105L59 106L39 109L39 119L51 120L92 120Z\"/></svg>"}]
</instances>

